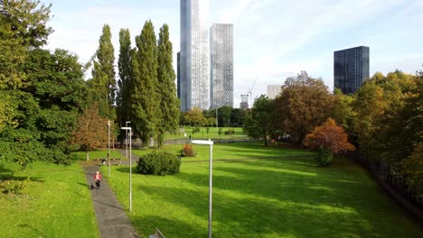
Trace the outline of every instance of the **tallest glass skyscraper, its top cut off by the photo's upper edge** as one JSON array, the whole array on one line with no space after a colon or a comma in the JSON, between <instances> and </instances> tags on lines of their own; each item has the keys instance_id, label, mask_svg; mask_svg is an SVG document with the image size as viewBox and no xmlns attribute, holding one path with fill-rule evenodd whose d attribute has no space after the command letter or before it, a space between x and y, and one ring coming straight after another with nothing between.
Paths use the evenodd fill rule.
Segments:
<instances>
[{"instance_id":1,"label":"tallest glass skyscraper, its top cut off by the photo's upper edge","mask_svg":"<svg viewBox=\"0 0 423 238\"><path fill-rule=\"evenodd\" d=\"M181 110L209 109L209 36L206 0L181 0Z\"/></svg>"}]
</instances>

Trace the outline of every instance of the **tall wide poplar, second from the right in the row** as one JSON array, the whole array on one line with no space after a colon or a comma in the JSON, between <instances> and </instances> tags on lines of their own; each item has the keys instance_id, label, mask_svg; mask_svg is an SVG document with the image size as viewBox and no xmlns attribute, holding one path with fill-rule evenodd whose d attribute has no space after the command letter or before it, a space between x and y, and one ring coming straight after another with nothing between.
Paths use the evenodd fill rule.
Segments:
<instances>
[{"instance_id":1,"label":"tall wide poplar, second from the right in the row","mask_svg":"<svg viewBox=\"0 0 423 238\"><path fill-rule=\"evenodd\" d=\"M151 21L144 24L141 35L136 36L136 63L133 60L133 91L131 93L131 123L135 133L146 145L154 135L160 119L160 95L157 81L157 45Z\"/></svg>"}]
</instances>

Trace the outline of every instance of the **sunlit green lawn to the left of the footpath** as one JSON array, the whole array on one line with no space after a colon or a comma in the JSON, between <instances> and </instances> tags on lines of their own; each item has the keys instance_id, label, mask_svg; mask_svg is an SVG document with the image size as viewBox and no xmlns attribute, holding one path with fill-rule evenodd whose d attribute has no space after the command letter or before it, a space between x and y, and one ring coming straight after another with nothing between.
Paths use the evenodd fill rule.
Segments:
<instances>
[{"instance_id":1,"label":"sunlit green lawn to the left of the footpath","mask_svg":"<svg viewBox=\"0 0 423 238\"><path fill-rule=\"evenodd\" d=\"M78 163L36 161L24 170L2 163L0 173L32 178L22 195L0 193L0 237L99 237L91 194Z\"/></svg>"}]
</instances>

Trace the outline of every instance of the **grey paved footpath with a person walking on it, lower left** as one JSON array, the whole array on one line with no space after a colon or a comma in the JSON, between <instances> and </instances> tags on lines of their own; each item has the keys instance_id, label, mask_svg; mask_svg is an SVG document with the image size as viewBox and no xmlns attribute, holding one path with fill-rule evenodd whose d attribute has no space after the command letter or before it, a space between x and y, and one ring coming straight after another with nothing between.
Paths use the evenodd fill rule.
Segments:
<instances>
[{"instance_id":1,"label":"grey paved footpath with a person walking on it, lower left","mask_svg":"<svg viewBox=\"0 0 423 238\"><path fill-rule=\"evenodd\" d=\"M99 167L92 166L85 168L88 184L94 184L94 174ZM101 180L101 187L91 191L92 203L96 212L97 224L101 238L133 238L139 237L131 226L125 210L119 205L115 194L108 187L106 179Z\"/></svg>"}]
</instances>

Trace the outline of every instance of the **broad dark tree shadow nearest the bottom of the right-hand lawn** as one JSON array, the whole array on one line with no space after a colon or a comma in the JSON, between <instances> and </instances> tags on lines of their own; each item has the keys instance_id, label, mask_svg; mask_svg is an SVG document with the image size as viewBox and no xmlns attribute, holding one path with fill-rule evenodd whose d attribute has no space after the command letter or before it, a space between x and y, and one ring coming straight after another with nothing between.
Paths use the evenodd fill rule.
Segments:
<instances>
[{"instance_id":1,"label":"broad dark tree shadow nearest the bottom of the right-hand lawn","mask_svg":"<svg viewBox=\"0 0 423 238\"><path fill-rule=\"evenodd\" d=\"M189 224L180 224L177 230L169 231L170 237L203 237L202 230L207 229L208 193L206 190L194 190L183 188L160 188L154 186L140 186L143 192L157 200L164 200L166 204L182 206L191 211L191 214L183 215L183 219L202 217L200 229L193 229ZM180 214L174 211L165 211L164 215L174 217ZM189 217L185 217L189 216ZM356 223L337 224L340 218L348 221L357 217L353 209L347 207L332 210L331 206L313 206L304 202L296 201L272 201L268 199L251 199L251 197L226 196L224 193L213 194L213 236L215 237L263 237L273 236L302 236L302 237L339 237L339 233L354 233L363 235L366 233L363 227L357 228ZM174 224L174 220L155 221L155 224L136 224L138 227L155 225L166 227ZM162 224L163 222L163 224ZM335 225L336 224L336 225ZM336 227L334 227L336 226ZM330 228L327 228L330 227ZM192 233L180 235L179 231L188 230ZM336 234L336 236L334 236ZM164 234L164 235L167 235Z\"/></svg>"}]
</instances>

